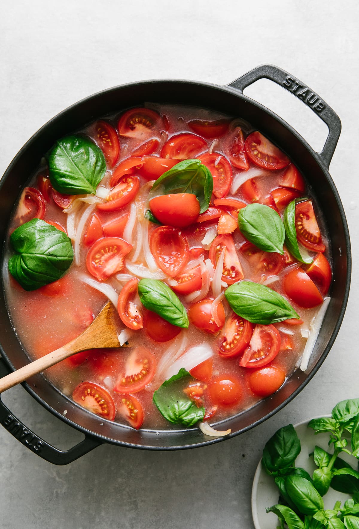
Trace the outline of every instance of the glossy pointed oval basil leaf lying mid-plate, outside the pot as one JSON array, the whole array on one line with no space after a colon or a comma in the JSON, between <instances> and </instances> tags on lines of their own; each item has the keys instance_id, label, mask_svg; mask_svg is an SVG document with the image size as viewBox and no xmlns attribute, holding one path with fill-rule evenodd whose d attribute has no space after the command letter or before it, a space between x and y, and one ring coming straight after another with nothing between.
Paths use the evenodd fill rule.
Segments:
<instances>
[{"instance_id":1,"label":"glossy pointed oval basil leaf lying mid-plate, outside the pot","mask_svg":"<svg viewBox=\"0 0 359 529\"><path fill-rule=\"evenodd\" d=\"M308 479L295 475L287 476L285 488L302 514L313 515L324 508L322 497Z\"/></svg>"}]
</instances>

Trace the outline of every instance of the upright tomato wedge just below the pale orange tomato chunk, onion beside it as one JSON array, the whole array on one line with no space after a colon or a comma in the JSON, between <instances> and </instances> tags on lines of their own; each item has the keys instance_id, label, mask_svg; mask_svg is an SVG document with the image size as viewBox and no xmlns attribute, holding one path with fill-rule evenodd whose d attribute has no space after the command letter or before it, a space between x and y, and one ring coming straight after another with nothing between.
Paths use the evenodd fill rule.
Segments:
<instances>
[{"instance_id":1,"label":"upright tomato wedge just below the pale orange tomato chunk, onion beside it","mask_svg":"<svg viewBox=\"0 0 359 529\"><path fill-rule=\"evenodd\" d=\"M211 244L209 258L214 268L216 268L223 248L226 251L225 261L223 262L222 281L226 281L227 285L232 285L244 277L232 236L228 234L218 235Z\"/></svg>"}]
</instances>

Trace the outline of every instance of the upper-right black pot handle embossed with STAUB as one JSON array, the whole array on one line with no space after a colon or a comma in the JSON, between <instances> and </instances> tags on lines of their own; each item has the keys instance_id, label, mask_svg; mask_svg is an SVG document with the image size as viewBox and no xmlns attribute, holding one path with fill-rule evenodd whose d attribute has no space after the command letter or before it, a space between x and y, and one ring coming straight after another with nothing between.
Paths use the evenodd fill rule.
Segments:
<instances>
[{"instance_id":1,"label":"upper-right black pot handle embossed with STAUB","mask_svg":"<svg viewBox=\"0 0 359 529\"><path fill-rule=\"evenodd\" d=\"M309 106L322 121L328 126L329 134L324 144L323 150L319 152L319 156L324 161L328 168L331 158L333 157L336 145L338 143L342 124L339 117L332 108L319 97L311 88L302 83L299 79L289 74L282 68L273 65L257 66L253 70L248 71L243 76L239 77L227 86L236 88L243 93L243 90L258 81L259 79L270 79L277 85L282 86L289 92L298 97L300 101Z\"/></svg>"}]
</instances>

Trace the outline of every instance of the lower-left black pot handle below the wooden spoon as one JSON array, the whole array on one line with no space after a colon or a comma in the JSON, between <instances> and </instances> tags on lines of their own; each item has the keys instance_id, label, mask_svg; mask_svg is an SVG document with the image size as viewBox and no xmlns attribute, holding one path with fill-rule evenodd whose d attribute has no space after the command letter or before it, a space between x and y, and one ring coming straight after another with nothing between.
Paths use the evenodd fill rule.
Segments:
<instances>
[{"instance_id":1,"label":"lower-left black pot handle below the wooden spoon","mask_svg":"<svg viewBox=\"0 0 359 529\"><path fill-rule=\"evenodd\" d=\"M5 366L5 362L0 359L0 376L5 376L10 373L10 370ZM20 441L26 448L32 450L42 459L46 459L53 464L64 465L68 464L90 450L96 448L101 442L89 435L85 439L76 444L69 450L58 450L55 446L47 443L44 439L29 430L19 419L15 417L10 409L5 406L0 396L0 424L6 428L18 441Z\"/></svg>"}]
</instances>

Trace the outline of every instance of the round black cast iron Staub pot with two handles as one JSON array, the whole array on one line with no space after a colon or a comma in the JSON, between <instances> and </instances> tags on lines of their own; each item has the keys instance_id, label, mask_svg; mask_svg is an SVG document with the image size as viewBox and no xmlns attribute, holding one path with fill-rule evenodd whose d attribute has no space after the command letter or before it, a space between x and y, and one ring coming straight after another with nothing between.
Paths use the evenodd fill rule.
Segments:
<instances>
[{"instance_id":1,"label":"round black cast iron Staub pot with two handles","mask_svg":"<svg viewBox=\"0 0 359 529\"><path fill-rule=\"evenodd\" d=\"M243 90L258 79L267 78L292 92L328 125L329 135L324 149L316 153L280 117L267 108L243 95ZM342 203L328 172L339 134L340 120L331 108L315 92L280 68L263 65L249 71L228 86L216 86L191 81L145 81L105 90L69 107L50 120L24 145L1 180L0 230L2 245L19 190L34 173L41 157L55 142L69 132L107 114L120 113L129 107L143 106L145 101L177 103L210 108L230 116L244 118L284 151L294 164L307 176L313 193L317 196L324 213L333 257L333 283L331 301L322 324L309 369L293 373L284 386L272 398L262 400L248 411L228 418L223 428L231 428L228 437L238 435L265 421L287 404L313 377L334 343L342 323L348 298L351 250L348 227ZM0 293L0 374L19 369L29 362L25 351L16 338L8 316L3 289ZM195 448L216 443L223 438L205 437L198 428L191 430L135 431L130 427L105 421L72 403L41 375L34 376L25 389L61 421L85 433L85 439L67 451L59 451L31 432L0 400L0 422L19 441L43 459L56 464L66 464L85 454L101 443L113 443L131 448L151 450L176 450ZM62 414L67 410L66 417ZM226 437L226 439L228 438Z\"/></svg>"}]
</instances>

